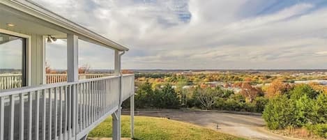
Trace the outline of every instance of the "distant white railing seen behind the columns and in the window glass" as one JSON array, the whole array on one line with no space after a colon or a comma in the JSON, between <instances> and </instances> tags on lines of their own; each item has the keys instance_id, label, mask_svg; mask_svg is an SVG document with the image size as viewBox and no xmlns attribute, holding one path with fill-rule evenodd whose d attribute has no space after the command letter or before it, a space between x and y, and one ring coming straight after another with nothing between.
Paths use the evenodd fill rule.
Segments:
<instances>
[{"instance_id":1,"label":"distant white railing seen behind the columns and in the window glass","mask_svg":"<svg viewBox=\"0 0 327 140\"><path fill-rule=\"evenodd\" d=\"M100 77L109 77L112 74L79 74L79 79L94 79ZM46 74L47 84L60 83L67 81L67 74ZM10 88L20 88L22 86L22 74L0 75L0 90Z\"/></svg>"}]
</instances>

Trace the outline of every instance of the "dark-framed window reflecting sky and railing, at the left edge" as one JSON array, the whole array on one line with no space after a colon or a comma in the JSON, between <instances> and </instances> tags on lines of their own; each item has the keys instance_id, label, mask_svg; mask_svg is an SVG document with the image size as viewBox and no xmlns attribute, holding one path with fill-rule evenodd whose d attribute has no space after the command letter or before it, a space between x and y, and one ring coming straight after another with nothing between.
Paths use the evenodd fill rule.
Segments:
<instances>
[{"instance_id":1,"label":"dark-framed window reflecting sky and railing, at the left edge","mask_svg":"<svg viewBox=\"0 0 327 140\"><path fill-rule=\"evenodd\" d=\"M26 39L0 33L0 90L26 85Z\"/></svg>"}]
</instances>

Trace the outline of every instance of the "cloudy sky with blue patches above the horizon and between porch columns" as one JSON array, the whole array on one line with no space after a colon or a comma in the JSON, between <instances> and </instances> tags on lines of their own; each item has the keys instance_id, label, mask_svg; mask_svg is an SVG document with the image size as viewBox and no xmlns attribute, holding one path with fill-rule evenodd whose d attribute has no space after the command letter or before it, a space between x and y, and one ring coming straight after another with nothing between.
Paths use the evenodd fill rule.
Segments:
<instances>
[{"instance_id":1,"label":"cloudy sky with blue patches above the horizon and between porch columns","mask_svg":"<svg viewBox=\"0 0 327 140\"><path fill-rule=\"evenodd\" d=\"M33 1L129 47L124 69L327 68L326 0ZM113 68L112 50L82 44L80 65ZM48 45L55 68L64 45Z\"/></svg>"}]
</instances>

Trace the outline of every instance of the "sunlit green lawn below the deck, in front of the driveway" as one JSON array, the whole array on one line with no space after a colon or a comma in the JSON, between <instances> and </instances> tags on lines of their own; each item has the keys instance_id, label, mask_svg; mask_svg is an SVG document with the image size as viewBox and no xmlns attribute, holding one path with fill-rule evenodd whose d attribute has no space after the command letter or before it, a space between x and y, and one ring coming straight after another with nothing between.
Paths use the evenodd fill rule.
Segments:
<instances>
[{"instance_id":1,"label":"sunlit green lawn below the deck, in front of the driveway","mask_svg":"<svg viewBox=\"0 0 327 140\"><path fill-rule=\"evenodd\" d=\"M130 116L122 116L122 137L130 137ZM92 130L89 137L112 137L112 118ZM135 140L218 140L239 139L204 127L167 118L135 116Z\"/></svg>"}]
</instances>

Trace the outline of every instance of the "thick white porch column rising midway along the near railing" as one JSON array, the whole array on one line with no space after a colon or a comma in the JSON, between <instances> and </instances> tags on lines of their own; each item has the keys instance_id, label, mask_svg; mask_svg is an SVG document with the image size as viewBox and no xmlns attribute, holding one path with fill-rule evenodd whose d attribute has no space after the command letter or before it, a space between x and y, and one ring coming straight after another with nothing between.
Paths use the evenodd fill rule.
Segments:
<instances>
[{"instance_id":1,"label":"thick white porch column rising midway along the near railing","mask_svg":"<svg viewBox=\"0 0 327 140\"><path fill-rule=\"evenodd\" d=\"M67 34L67 81L74 82L78 81L78 36L74 34ZM77 130L77 86L70 86L68 88L68 100L72 101L71 111L73 124L71 133L73 137Z\"/></svg>"}]
</instances>

